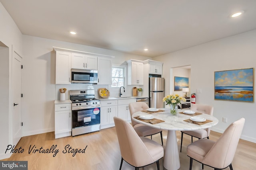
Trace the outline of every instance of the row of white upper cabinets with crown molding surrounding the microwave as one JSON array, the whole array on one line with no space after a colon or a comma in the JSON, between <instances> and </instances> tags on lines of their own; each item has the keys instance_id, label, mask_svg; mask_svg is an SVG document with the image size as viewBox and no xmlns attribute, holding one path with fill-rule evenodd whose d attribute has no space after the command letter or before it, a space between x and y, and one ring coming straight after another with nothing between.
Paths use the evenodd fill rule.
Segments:
<instances>
[{"instance_id":1,"label":"row of white upper cabinets with crown molding surrounding the microwave","mask_svg":"<svg viewBox=\"0 0 256 170\"><path fill-rule=\"evenodd\" d=\"M111 84L113 56L59 47L53 49L56 51L56 84L71 83L71 68L98 70L98 84Z\"/></svg>"}]
</instances>

